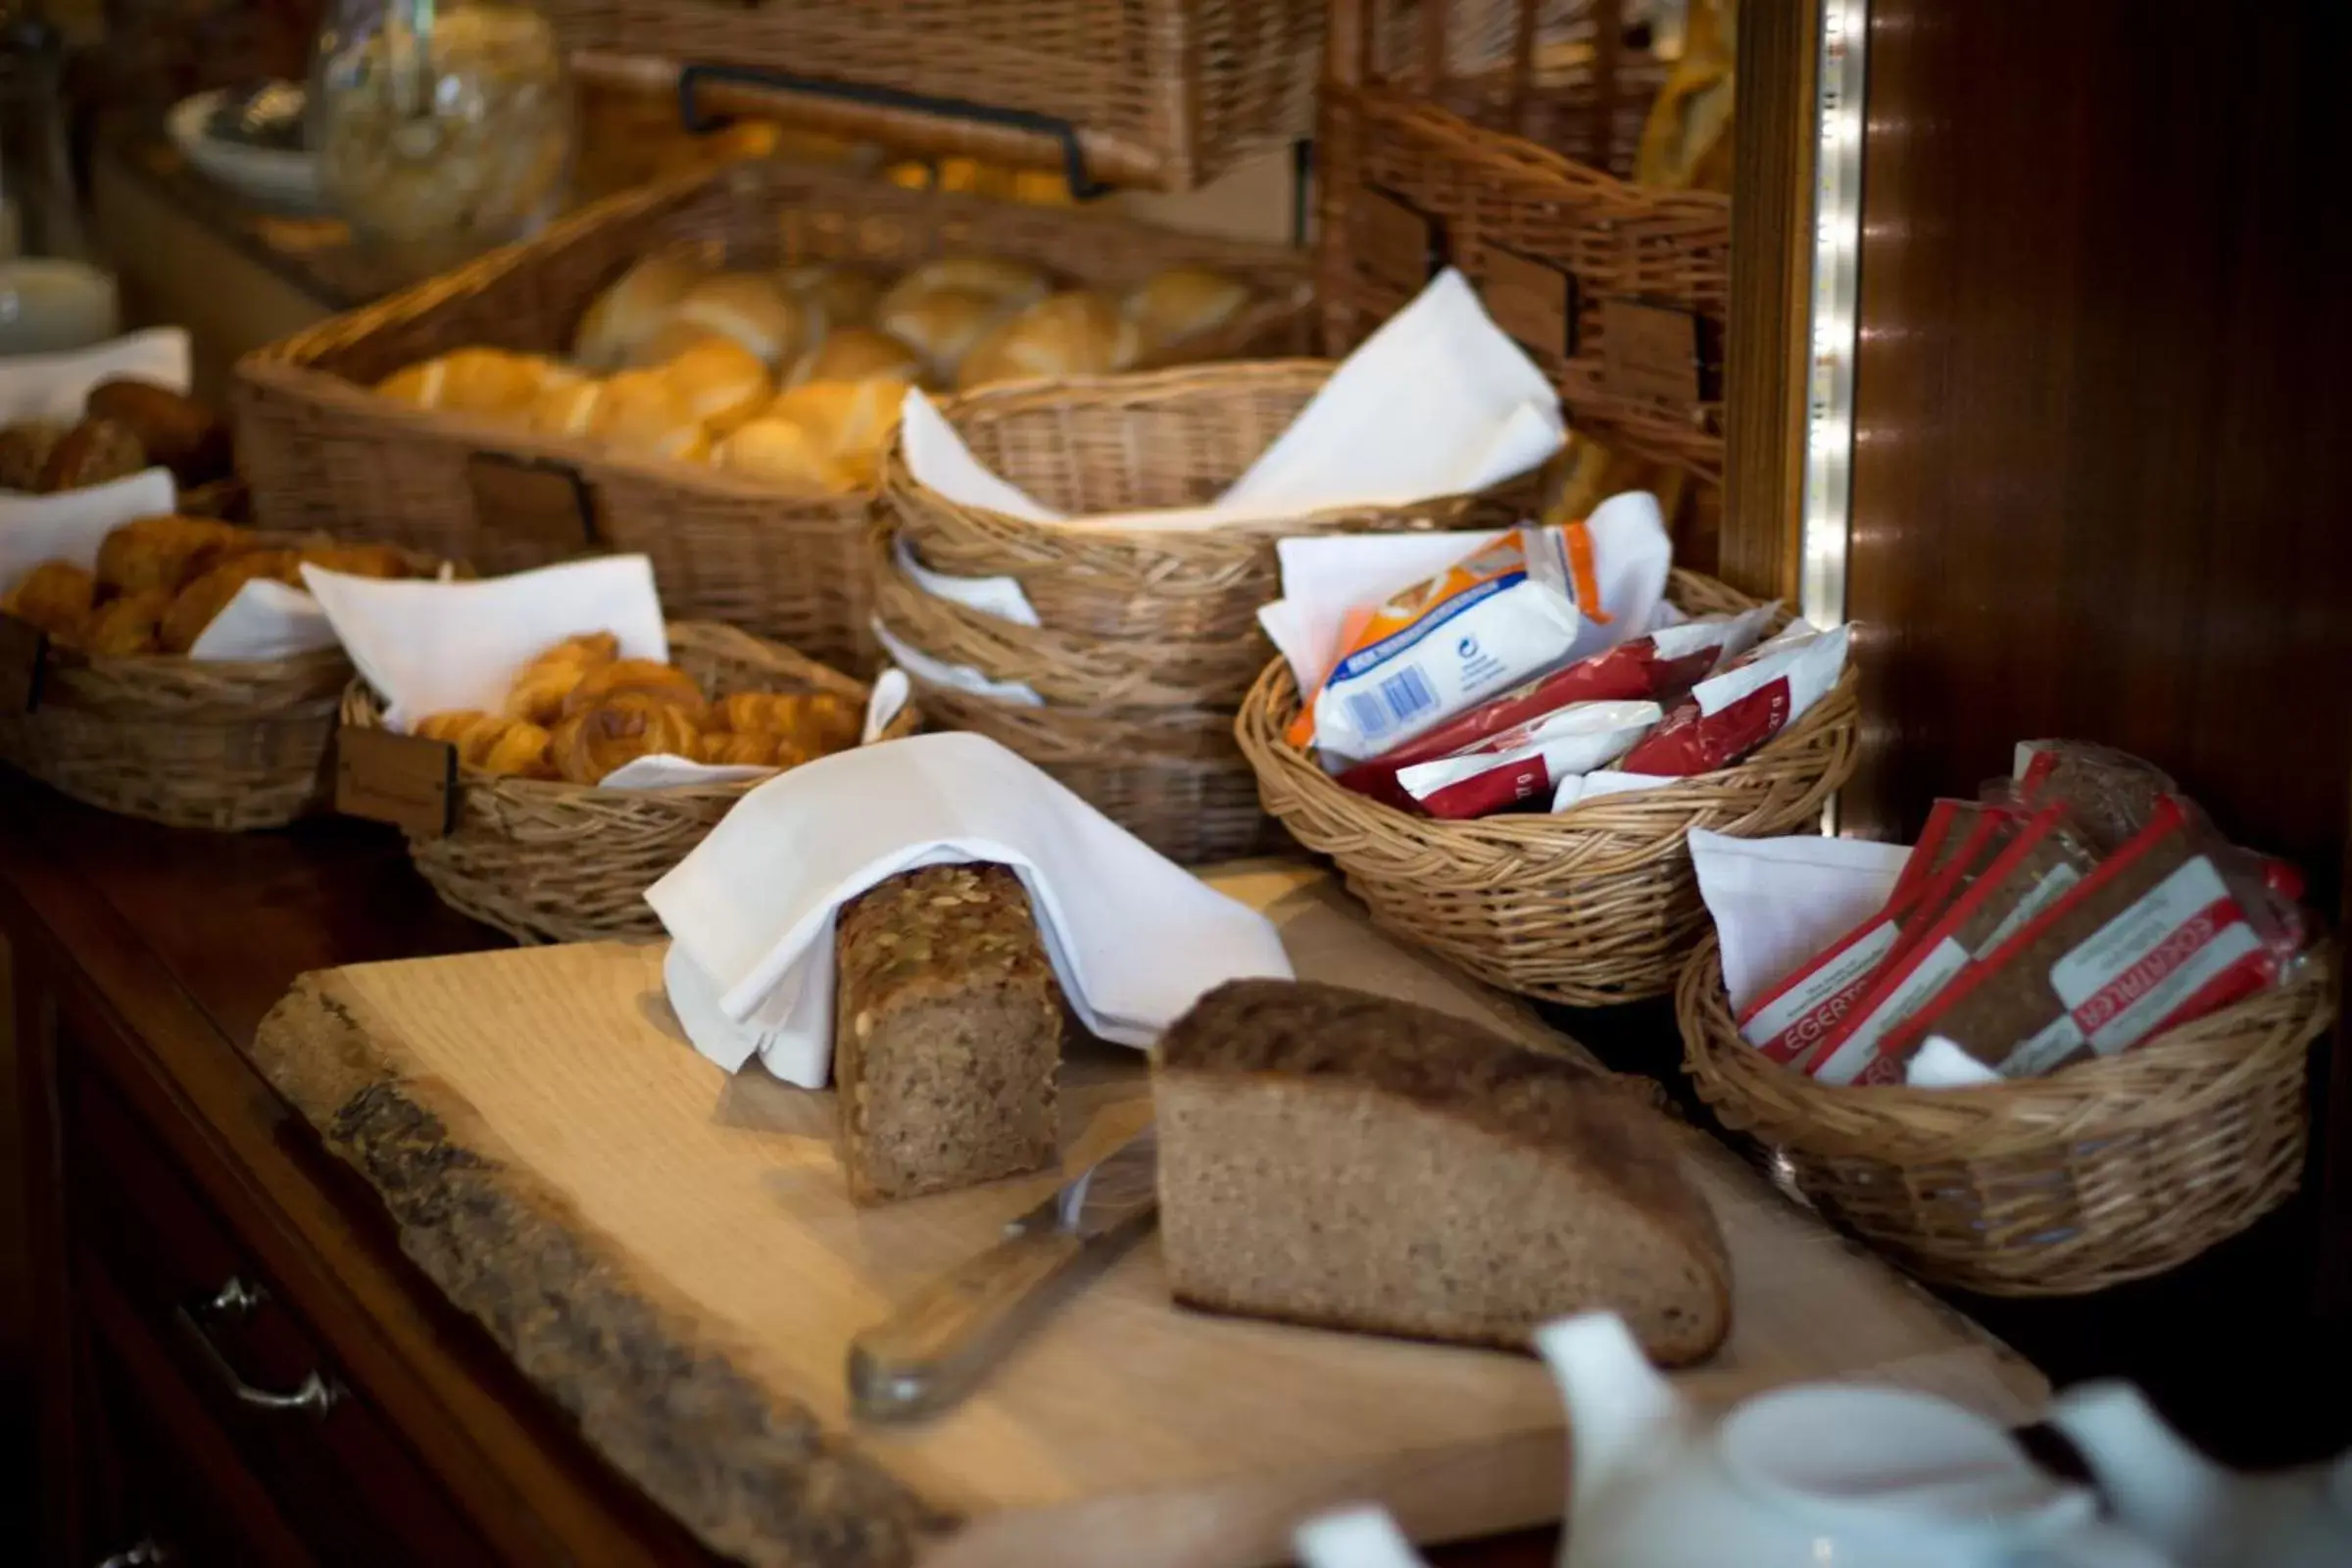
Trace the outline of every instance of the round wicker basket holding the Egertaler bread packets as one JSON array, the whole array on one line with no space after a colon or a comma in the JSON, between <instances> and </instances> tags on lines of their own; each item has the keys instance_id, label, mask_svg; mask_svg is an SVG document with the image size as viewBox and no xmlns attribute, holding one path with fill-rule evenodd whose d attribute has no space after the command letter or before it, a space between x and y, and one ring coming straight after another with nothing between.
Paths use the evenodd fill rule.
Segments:
<instances>
[{"instance_id":1,"label":"round wicker basket holding the Egertaler bread packets","mask_svg":"<svg viewBox=\"0 0 2352 1568\"><path fill-rule=\"evenodd\" d=\"M1806 1201L1922 1279L2079 1295L2178 1267L2303 1175L2328 954L2124 1056L1985 1088L1832 1086L1738 1037L1710 933L1682 971L1684 1067Z\"/></svg>"}]
</instances>

